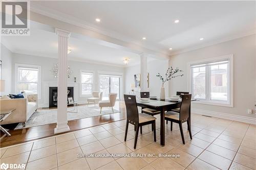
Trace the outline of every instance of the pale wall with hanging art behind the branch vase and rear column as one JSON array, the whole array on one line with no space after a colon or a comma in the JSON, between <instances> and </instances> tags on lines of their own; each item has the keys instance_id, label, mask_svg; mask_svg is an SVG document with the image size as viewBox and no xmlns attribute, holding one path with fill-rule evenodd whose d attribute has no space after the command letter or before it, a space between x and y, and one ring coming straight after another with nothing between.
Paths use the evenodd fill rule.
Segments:
<instances>
[{"instance_id":1,"label":"pale wall with hanging art behind the branch vase and rear column","mask_svg":"<svg viewBox=\"0 0 256 170\"><path fill-rule=\"evenodd\" d=\"M139 59L138 59L139 60ZM150 95L160 96L160 88L162 86L161 80L156 77L159 72L161 75L165 74L168 69L168 60L155 59L147 62L147 71L149 75ZM140 74L140 65L134 65L125 68L125 93L131 92L131 84L134 83L134 75ZM137 89L139 90L139 89ZM165 84L165 95L168 94L168 84Z\"/></svg>"}]
</instances>

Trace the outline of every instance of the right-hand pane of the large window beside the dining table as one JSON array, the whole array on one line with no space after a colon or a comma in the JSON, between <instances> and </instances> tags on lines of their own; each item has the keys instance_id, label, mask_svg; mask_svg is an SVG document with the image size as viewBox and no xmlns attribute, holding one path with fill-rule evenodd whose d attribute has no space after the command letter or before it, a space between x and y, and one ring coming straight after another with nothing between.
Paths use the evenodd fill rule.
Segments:
<instances>
[{"instance_id":1,"label":"right-hand pane of the large window beside the dining table","mask_svg":"<svg viewBox=\"0 0 256 170\"><path fill-rule=\"evenodd\" d=\"M210 99L227 101L227 64L211 66Z\"/></svg>"}]
</instances>

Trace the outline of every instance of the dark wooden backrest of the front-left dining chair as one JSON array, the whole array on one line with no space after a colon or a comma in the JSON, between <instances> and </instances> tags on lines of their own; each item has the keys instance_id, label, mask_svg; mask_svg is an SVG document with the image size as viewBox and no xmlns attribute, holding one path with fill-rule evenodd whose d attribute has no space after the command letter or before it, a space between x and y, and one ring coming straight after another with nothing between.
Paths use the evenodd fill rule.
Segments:
<instances>
[{"instance_id":1,"label":"dark wooden backrest of the front-left dining chair","mask_svg":"<svg viewBox=\"0 0 256 170\"><path fill-rule=\"evenodd\" d=\"M139 112L135 95L124 94L124 103L126 107L126 118L133 125L139 124Z\"/></svg>"}]
</instances>

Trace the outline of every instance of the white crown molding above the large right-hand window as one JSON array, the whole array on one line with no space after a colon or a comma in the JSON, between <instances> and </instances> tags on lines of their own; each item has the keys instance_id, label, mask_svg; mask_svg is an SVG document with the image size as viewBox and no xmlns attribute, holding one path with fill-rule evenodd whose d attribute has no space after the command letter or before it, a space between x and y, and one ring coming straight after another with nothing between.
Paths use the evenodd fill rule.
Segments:
<instances>
[{"instance_id":1,"label":"white crown molding above the large right-hand window","mask_svg":"<svg viewBox=\"0 0 256 170\"><path fill-rule=\"evenodd\" d=\"M172 57L174 55L178 55L178 54L198 50L199 48L220 44L220 43L223 43L223 42L239 39L239 38L254 35L254 34L256 34L256 29L249 30L249 31L246 31L246 32L242 32L242 33L239 33L239 34L233 34L231 36L227 36L225 38L217 39L217 40L214 40L214 41L205 42L205 43L200 44L200 45L191 46L191 47L188 47L188 48L183 48L182 50L177 50L177 51L174 51L174 52L170 53L169 56Z\"/></svg>"}]
</instances>

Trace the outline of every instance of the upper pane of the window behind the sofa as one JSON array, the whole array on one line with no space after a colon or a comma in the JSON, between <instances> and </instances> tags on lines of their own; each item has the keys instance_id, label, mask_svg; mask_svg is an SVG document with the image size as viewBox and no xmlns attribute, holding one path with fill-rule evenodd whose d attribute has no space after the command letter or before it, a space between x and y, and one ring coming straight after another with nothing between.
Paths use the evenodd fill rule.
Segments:
<instances>
[{"instance_id":1,"label":"upper pane of the window behind the sofa","mask_svg":"<svg viewBox=\"0 0 256 170\"><path fill-rule=\"evenodd\" d=\"M37 82L38 70L18 69L19 82Z\"/></svg>"}]
</instances>

